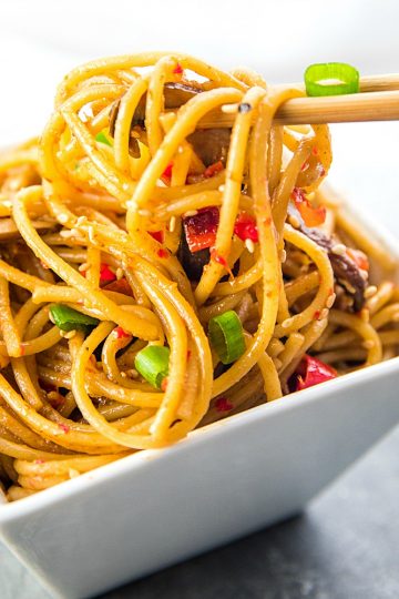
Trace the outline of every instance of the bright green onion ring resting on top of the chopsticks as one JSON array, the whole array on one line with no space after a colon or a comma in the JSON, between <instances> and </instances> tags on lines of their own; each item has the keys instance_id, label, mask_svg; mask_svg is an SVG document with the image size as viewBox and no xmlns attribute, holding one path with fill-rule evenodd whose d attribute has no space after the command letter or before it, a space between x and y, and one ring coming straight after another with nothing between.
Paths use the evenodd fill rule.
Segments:
<instances>
[{"instance_id":1,"label":"bright green onion ring resting on top of the chopsticks","mask_svg":"<svg viewBox=\"0 0 399 599\"><path fill-rule=\"evenodd\" d=\"M359 91L359 71L345 62L310 64L305 71L308 95L340 95Z\"/></svg>"}]
</instances>

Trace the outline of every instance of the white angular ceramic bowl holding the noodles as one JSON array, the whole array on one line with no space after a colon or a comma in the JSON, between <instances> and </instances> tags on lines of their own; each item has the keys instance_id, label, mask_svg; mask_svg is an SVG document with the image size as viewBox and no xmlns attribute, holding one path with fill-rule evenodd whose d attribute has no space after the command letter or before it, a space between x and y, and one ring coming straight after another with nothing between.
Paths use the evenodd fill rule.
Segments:
<instances>
[{"instance_id":1,"label":"white angular ceramic bowl holding the noodles","mask_svg":"<svg viewBox=\"0 0 399 599\"><path fill-rule=\"evenodd\" d=\"M95 596L300 511L396 426L398 383L395 358L4 504L1 539L57 597Z\"/></svg>"}]
</instances>

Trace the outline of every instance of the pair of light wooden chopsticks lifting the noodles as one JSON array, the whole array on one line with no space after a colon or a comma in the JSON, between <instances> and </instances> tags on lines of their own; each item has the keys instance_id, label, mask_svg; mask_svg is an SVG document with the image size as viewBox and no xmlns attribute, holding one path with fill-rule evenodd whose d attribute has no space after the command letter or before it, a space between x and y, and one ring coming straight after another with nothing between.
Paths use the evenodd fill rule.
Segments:
<instances>
[{"instance_id":1,"label":"pair of light wooden chopsticks lifting the noodles","mask_svg":"<svg viewBox=\"0 0 399 599\"><path fill-rule=\"evenodd\" d=\"M303 84L293 88L304 89ZM231 128L235 114L215 110L198 123L203 129ZM275 124L320 124L399 120L399 74L360 78L360 92L295 98L278 109Z\"/></svg>"}]
</instances>

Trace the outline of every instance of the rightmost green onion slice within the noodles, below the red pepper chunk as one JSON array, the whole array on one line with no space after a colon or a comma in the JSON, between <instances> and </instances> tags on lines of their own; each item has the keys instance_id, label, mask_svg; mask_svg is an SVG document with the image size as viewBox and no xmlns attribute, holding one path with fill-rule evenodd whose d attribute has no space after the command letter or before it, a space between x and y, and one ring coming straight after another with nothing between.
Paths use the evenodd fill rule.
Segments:
<instances>
[{"instance_id":1,"label":"rightmost green onion slice within the noodles, below the red pepper chunk","mask_svg":"<svg viewBox=\"0 0 399 599\"><path fill-rule=\"evenodd\" d=\"M243 326L237 313L229 309L211 318L208 325L211 345L223 364L232 364L245 352Z\"/></svg>"}]
</instances>

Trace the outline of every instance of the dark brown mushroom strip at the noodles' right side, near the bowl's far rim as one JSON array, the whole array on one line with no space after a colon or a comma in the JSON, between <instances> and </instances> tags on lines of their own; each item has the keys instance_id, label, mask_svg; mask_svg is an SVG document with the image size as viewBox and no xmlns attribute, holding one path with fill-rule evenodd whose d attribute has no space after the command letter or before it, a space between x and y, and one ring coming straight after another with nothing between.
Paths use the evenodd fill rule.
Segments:
<instances>
[{"instance_id":1,"label":"dark brown mushroom strip at the noodles' right side, near the bowl's far rim","mask_svg":"<svg viewBox=\"0 0 399 599\"><path fill-rule=\"evenodd\" d=\"M337 242L334 238L328 237L318 229L308 229L305 225L300 225L299 231L305 233L309 240L314 241L317 243L317 245L327 251L335 277L337 278L338 283L342 284L347 293L352 296L354 311L359 312L365 304L365 291L368 285L368 281L361 275L358 264L346 253L335 253L332 248Z\"/></svg>"}]
</instances>

